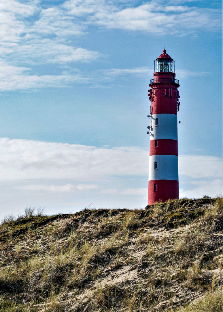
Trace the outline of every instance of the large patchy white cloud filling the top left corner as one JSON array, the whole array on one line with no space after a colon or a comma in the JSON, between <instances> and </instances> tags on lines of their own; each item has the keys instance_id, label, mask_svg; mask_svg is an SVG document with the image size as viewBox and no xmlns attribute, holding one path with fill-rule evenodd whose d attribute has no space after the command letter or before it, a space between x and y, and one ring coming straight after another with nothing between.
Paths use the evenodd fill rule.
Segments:
<instances>
[{"instance_id":1,"label":"large patchy white cloud filling the top left corner","mask_svg":"<svg viewBox=\"0 0 223 312\"><path fill-rule=\"evenodd\" d=\"M26 17L30 18L29 22ZM102 54L73 46L67 40L70 36L83 35L84 28L61 6L43 9L39 1L1 0L0 53L5 62L13 61L13 65L94 61Z\"/></svg>"}]
</instances>

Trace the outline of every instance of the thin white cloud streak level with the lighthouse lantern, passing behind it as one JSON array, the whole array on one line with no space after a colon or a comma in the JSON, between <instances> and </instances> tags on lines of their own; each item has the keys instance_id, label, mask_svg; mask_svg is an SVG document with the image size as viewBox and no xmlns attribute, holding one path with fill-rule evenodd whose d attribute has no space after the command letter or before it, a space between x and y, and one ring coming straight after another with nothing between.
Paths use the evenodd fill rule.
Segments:
<instances>
[{"instance_id":1,"label":"thin white cloud streak level with the lighthouse lantern, passing behind it","mask_svg":"<svg viewBox=\"0 0 223 312\"><path fill-rule=\"evenodd\" d=\"M81 74L78 70L76 73L69 73L63 71L61 75L31 75L32 69L30 67L20 67L8 64L6 61L0 59L0 90L38 90L46 87L69 87L73 83L88 84L93 87L98 87L101 84L106 86L111 83L117 83L118 79L128 77L128 75L135 77L147 77L153 74L153 70L149 67L135 67L135 68L112 68L109 70L100 70L88 74ZM207 74L206 72L192 72L192 71L176 71L177 78L187 78L192 76L201 76Z\"/></svg>"}]
</instances>

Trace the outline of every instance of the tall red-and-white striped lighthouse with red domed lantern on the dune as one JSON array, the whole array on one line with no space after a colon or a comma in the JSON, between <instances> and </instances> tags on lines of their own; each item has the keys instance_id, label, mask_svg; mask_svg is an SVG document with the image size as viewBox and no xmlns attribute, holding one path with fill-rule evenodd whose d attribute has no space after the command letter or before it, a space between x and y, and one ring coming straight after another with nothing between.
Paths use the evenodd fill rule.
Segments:
<instances>
[{"instance_id":1,"label":"tall red-and-white striped lighthouse with red domed lantern on the dune","mask_svg":"<svg viewBox=\"0 0 223 312\"><path fill-rule=\"evenodd\" d=\"M175 61L163 50L154 61L154 79L148 90L151 101L148 205L179 198L177 112L179 80ZM179 121L180 123L180 121Z\"/></svg>"}]
</instances>

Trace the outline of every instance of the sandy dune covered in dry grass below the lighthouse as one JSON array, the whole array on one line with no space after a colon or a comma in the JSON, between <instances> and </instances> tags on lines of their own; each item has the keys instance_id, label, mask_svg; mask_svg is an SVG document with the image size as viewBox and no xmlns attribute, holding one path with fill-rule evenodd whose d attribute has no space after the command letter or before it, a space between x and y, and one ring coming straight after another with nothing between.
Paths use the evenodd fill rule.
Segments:
<instances>
[{"instance_id":1,"label":"sandy dune covered in dry grass below the lighthouse","mask_svg":"<svg viewBox=\"0 0 223 312\"><path fill-rule=\"evenodd\" d=\"M223 199L33 209L0 226L0 312L222 312Z\"/></svg>"}]
</instances>

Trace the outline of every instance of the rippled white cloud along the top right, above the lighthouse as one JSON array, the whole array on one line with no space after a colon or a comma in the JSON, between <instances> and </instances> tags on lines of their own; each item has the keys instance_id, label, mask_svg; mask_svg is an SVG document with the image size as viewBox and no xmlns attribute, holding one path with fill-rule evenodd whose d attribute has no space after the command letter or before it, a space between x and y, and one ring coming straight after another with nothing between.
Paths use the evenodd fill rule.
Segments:
<instances>
[{"instance_id":1,"label":"rippled white cloud along the top right, above the lighthouse","mask_svg":"<svg viewBox=\"0 0 223 312\"><path fill-rule=\"evenodd\" d=\"M65 2L67 9L75 14L76 0ZM78 1L84 7L88 1ZM185 35L205 30L221 29L221 12L217 9L197 8L188 6L172 6L167 2L150 1L139 6L129 5L126 8L114 5L104 8L91 2L94 11L88 18L100 27L119 28L126 30L141 30L158 35L166 32L172 35ZM105 3L101 1L101 3ZM107 2L106 2L107 3Z\"/></svg>"}]
</instances>

